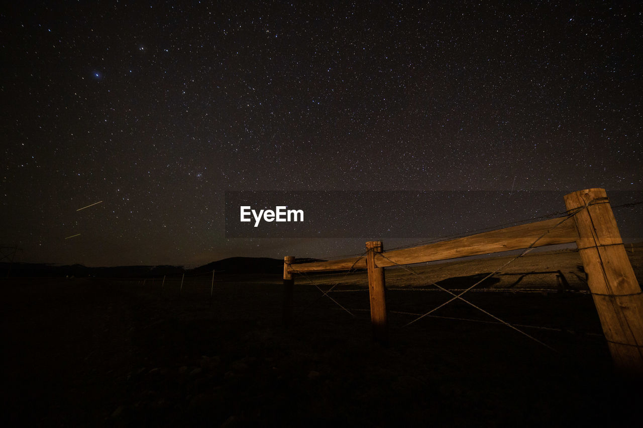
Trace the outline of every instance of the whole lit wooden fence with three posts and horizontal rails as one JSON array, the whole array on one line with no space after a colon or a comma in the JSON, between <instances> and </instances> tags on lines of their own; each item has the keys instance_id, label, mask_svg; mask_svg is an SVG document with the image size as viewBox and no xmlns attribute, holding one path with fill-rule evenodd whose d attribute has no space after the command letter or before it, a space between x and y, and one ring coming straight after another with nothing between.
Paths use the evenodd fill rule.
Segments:
<instances>
[{"instance_id":1,"label":"whole lit wooden fence with three posts and horizontal rails","mask_svg":"<svg viewBox=\"0 0 643 428\"><path fill-rule=\"evenodd\" d=\"M293 273L367 269L370 315L378 341L388 340L385 267L516 249L575 243L617 370L643 375L643 294L629 263L604 189L565 195L565 217L506 227L418 247L383 251L366 243L366 257L294 264L284 258L284 322L293 319Z\"/></svg>"}]
</instances>

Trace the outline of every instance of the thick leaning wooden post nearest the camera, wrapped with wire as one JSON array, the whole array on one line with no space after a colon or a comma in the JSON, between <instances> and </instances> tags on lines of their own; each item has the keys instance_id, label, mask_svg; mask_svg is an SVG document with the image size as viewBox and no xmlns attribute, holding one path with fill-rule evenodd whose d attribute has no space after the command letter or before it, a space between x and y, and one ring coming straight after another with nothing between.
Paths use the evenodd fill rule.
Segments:
<instances>
[{"instance_id":1,"label":"thick leaning wooden post nearest the camera, wrapped with wire","mask_svg":"<svg viewBox=\"0 0 643 428\"><path fill-rule=\"evenodd\" d=\"M643 376L643 294L604 189L565 195L574 215L579 254L618 371Z\"/></svg>"}]
</instances>

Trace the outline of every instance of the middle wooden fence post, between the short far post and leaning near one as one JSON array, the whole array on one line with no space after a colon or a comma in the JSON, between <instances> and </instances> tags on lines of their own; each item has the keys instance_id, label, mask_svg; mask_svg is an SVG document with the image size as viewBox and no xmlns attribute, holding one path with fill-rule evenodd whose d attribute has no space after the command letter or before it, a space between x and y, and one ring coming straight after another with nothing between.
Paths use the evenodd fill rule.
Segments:
<instances>
[{"instance_id":1,"label":"middle wooden fence post, between the short far post and leaning near one","mask_svg":"<svg viewBox=\"0 0 643 428\"><path fill-rule=\"evenodd\" d=\"M366 243L366 266L368 271L368 295L370 296L370 322L376 341L388 343L388 323L386 321L386 281L384 268L377 267L375 253L384 251L381 241Z\"/></svg>"}]
</instances>

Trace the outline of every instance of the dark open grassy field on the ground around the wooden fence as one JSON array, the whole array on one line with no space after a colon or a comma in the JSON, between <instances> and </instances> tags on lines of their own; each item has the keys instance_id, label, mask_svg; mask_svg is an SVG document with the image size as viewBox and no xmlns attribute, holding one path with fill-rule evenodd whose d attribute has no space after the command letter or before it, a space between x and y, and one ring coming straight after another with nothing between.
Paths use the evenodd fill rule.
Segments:
<instances>
[{"instance_id":1,"label":"dark open grassy field on the ground around the wooden fence","mask_svg":"<svg viewBox=\"0 0 643 428\"><path fill-rule=\"evenodd\" d=\"M643 248L628 255L641 281ZM387 269L390 346L370 337L365 272L298 276L281 326L280 276L15 279L3 287L3 411L12 425L563 426L633 424L640 382L611 373L578 254ZM565 276L565 285L557 275ZM439 282L441 281L441 282ZM345 312L331 299L329 289ZM433 287L435 289L435 287ZM343 290L343 291L342 291ZM345 291L356 290L356 291ZM451 318L460 318L455 320ZM529 326L529 327L528 327ZM544 327L544 328L543 328ZM636 419L635 419L636 418Z\"/></svg>"}]
</instances>

